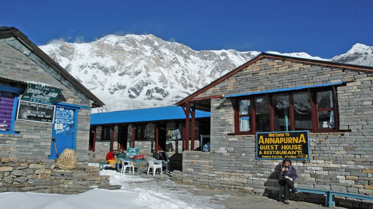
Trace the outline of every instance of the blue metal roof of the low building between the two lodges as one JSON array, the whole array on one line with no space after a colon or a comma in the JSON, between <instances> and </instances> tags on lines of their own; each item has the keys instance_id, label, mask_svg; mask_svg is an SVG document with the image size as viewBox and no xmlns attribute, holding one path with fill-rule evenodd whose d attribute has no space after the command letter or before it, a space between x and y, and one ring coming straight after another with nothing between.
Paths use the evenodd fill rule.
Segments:
<instances>
[{"instance_id":1,"label":"blue metal roof of the low building between the two lodges","mask_svg":"<svg viewBox=\"0 0 373 209\"><path fill-rule=\"evenodd\" d=\"M200 117L210 117L210 112L196 109L195 118ZM174 119L185 119L185 113L181 106L164 106L145 109L93 113L91 115L91 125Z\"/></svg>"}]
</instances>

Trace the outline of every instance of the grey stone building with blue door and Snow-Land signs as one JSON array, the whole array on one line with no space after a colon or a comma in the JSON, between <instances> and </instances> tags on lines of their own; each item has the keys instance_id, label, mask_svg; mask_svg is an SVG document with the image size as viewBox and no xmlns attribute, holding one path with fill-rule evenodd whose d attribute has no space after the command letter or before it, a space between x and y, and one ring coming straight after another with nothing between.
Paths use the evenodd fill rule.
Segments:
<instances>
[{"instance_id":1,"label":"grey stone building with blue door and Snow-Land signs","mask_svg":"<svg viewBox=\"0 0 373 209\"><path fill-rule=\"evenodd\" d=\"M87 166L91 108L102 105L17 28L0 27L0 191L61 192L54 159L71 148Z\"/></svg>"}]
</instances>

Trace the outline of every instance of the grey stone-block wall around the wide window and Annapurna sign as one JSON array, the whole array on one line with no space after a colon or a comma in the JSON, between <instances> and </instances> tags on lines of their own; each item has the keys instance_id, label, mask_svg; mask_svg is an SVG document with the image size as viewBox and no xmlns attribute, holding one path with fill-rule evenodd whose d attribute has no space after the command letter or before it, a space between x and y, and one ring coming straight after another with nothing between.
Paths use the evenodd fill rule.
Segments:
<instances>
[{"instance_id":1,"label":"grey stone-block wall around the wide window and Annapurna sign","mask_svg":"<svg viewBox=\"0 0 373 209\"><path fill-rule=\"evenodd\" d=\"M197 97L342 80L351 82L337 88L339 129L342 132L310 134L310 160L293 161L299 176L295 183L301 187L372 194L372 73L262 59ZM234 135L234 111L231 102L225 99L211 100L208 186L276 197L278 183L274 173L279 160L257 160L255 153L255 135ZM183 170L192 168L188 164L183 166L187 166ZM198 178L195 180L198 181ZM315 199L315 202L317 201L323 200ZM340 201L339 204L355 207L352 202Z\"/></svg>"}]
</instances>

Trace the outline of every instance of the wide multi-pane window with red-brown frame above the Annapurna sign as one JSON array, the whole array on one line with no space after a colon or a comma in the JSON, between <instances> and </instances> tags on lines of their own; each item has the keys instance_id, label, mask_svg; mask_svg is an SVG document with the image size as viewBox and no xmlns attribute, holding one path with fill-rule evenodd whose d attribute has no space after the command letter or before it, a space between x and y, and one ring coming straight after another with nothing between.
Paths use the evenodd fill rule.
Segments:
<instances>
[{"instance_id":1,"label":"wide multi-pane window with red-brown frame above the Annapurna sign","mask_svg":"<svg viewBox=\"0 0 373 209\"><path fill-rule=\"evenodd\" d=\"M236 102L236 134L294 130L332 132L338 128L334 86L258 95Z\"/></svg>"}]
</instances>

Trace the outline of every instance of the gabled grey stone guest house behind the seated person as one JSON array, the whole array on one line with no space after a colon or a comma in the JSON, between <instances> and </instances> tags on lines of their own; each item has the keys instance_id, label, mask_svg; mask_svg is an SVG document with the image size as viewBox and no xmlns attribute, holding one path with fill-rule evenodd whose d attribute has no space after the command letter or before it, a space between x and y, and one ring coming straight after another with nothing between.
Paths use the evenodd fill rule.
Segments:
<instances>
[{"instance_id":1,"label":"gabled grey stone guest house behind the seated person","mask_svg":"<svg viewBox=\"0 0 373 209\"><path fill-rule=\"evenodd\" d=\"M183 152L183 181L277 197L280 159L258 157L256 133L306 130L296 186L372 194L372 103L373 67L261 53L177 104L211 112L211 151Z\"/></svg>"}]
</instances>

